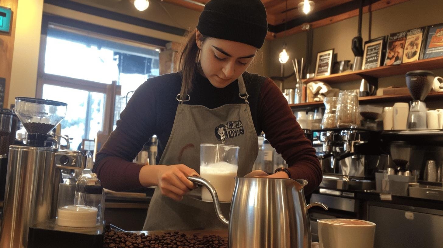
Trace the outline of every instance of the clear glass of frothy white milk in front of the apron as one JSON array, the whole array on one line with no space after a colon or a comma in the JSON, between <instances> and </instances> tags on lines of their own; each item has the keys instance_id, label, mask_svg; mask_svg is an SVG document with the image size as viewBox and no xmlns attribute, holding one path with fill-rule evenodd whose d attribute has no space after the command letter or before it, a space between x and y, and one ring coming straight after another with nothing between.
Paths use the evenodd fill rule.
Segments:
<instances>
[{"instance_id":1,"label":"clear glass of frothy white milk in front of the apron","mask_svg":"<svg viewBox=\"0 0 443 248\"><path fill-rule=\"evenodd\" d=\"M210 182L220 202L230 202L237 176L240 147L221 144L200 145L200 177ZM202 188L202 200L212 202L212 196Z\"/></svg>"}]
</instances>

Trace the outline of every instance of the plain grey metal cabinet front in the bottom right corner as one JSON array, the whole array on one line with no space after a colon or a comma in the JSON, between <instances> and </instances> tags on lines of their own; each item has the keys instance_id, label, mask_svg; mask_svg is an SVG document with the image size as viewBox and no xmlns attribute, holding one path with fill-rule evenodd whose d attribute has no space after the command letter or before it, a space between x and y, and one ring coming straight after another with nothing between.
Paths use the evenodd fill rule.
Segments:
<instances>
[{"instance_id":1,"label":"plain grey metal cabinet front in the bottom right corner","mask_svg":"<svg viewBox=\"0 0 443 248\"><path fill-rule=\"evenodd\" d=\"M443 211L380 203L368 208L369 221L377 225L374 247L442 247Z\"/></svg>"}]
</instances>

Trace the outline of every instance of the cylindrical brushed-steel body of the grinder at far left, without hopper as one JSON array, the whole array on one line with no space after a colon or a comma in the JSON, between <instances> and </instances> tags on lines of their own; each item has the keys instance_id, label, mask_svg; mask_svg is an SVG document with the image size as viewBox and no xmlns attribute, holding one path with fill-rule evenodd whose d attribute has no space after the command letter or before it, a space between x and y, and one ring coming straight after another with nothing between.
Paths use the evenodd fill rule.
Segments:
<instances>
[{"instance_id":1,"label":"cylindrical brushed-steel body of the grinder at far left, without hopper","mask_svg":"<svg viewBox=\"0 0 443 248\"><path fill-rule=\"evenodd\" d=\"M27 247L28 227L55 217L61 173L55 149L10 146L0 247Z\"/></svg>"}]
</instances>

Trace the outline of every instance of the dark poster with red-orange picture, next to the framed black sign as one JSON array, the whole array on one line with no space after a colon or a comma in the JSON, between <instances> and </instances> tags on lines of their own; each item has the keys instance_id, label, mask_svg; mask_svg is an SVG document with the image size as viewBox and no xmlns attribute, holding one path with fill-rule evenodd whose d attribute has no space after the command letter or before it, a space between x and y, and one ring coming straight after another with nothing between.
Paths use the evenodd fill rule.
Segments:
<instances>
[{"instance_id":1,"label":"dark poster with red-orange picture, next to the framed black sign","mask_svg":"<svg viewBox=\"0 0 443 248\"><path fill-rule=\"evenodd\" d=\"M406 31L389 35L388 47L386 48L385 66L401 64L405 43Z\"/></svg>"}]
</instances>

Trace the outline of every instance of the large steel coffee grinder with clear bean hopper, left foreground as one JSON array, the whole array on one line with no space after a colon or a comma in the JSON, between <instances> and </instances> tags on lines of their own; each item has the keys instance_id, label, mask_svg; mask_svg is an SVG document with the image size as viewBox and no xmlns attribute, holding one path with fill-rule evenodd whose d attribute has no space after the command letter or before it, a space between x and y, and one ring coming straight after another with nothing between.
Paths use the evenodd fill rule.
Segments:
<instances>
[{"instance_id":1,"label":"large steel coffee grinder with clear bean hopper, left foreground","mask_svg":"<svg viewBox=\"0 0 443 248\"><path fill-rule=\"evenodd\" d=\"M57 210L62 169L85 166L81 151L58 150L48 137L66 115L66 103L16 97L15 113L27 130L27 145L11 145L0 248L28 247L31 225L50 220Z\"/></svg>"}]
</instances>

